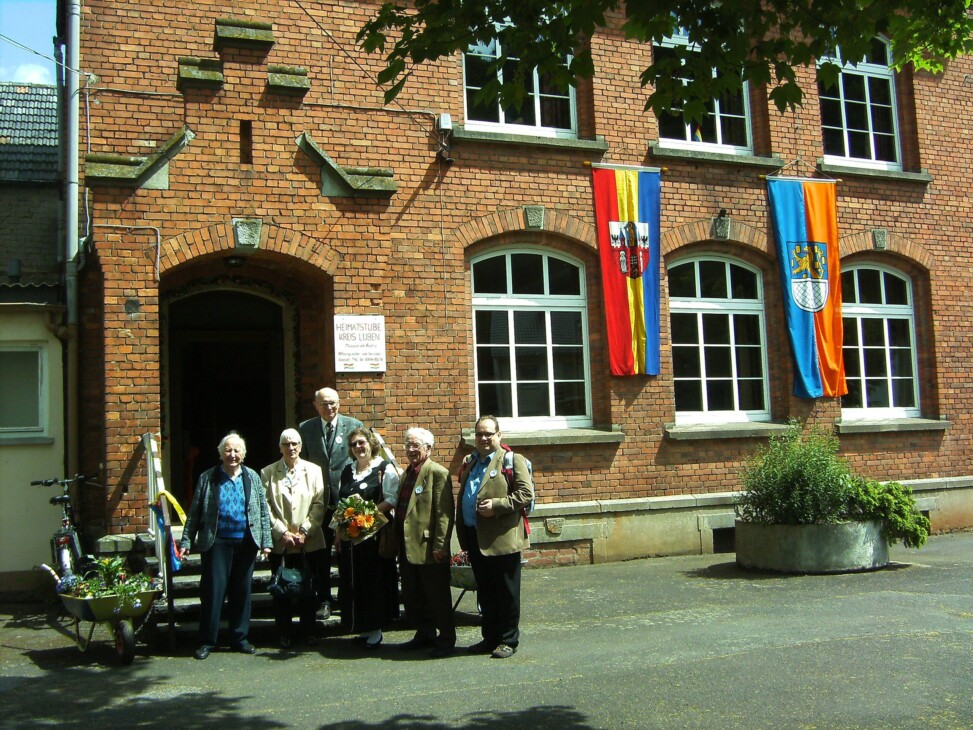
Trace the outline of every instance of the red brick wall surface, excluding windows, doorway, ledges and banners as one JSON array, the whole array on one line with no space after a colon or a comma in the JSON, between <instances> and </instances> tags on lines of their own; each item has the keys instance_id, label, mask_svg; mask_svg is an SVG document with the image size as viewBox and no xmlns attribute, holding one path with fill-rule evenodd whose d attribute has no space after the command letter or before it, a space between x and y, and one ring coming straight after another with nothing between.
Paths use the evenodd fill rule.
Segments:
<instances>
[{"instance_id":1,"label":"red brick wall surface, excluding windows, doorway, ledges and banners","mask_svg":"<svg viewBox=\"0 0 973 730\"><path fill-rule=\"evenodd\" d=\"M84 356L94 366L83 375L83 453L106 464L106 519L112 529L139 519L130 507L143 479L132 466L133 450L139 433L161 423L160 291L164 296L198 278L225 274L220 254L233 246L233 217L264 222L266 241L249 257L248 275L300 302L296 392L290 394L297 418L313 415L311 393L336 380L346 412L379 426L393 446L408 426L429 427L437 437L434 458L455 470L463 453L460 429L476 416L470 257L506 244L536 244L568 253L586 267L594 421L618 425L626 435L621 444L524 447L535 465L540 500L737 488L741 461L754 440L663 437L664 424L674 419L664 277L661 375L608 375L590 168L584 163L659 164L647 151L658 134L654 118L643 111L647 92L637 82L651 57L647 48L628 44L617 28L592 41L598 72L579 90L579 118L583 131L604 137L605 155L464 142L453 147L455 162L441 166L433 114L448 112L463 121L458 57L419 69L399 102L383 108L381 91L358 65L374 77L378 58L354 54L354 33L372 3L315 6L315 18L330 31L326 35L297 6L245 0L234 4L234 15L273 22L273 48L266 54L229 49L222 54L222 88L178 93L179 56L219 57L213 27L226 7L199 0L164 5L93 0L83 11L82 66L98 77L86 106L92 151L145 155L182 125L196 135L169 165L168 190L92 192L96 223L154 226L162 239L158 285L154 234L147 229L96 231L98 266L85 275ZM266 93L267 64L308 69L312 86L303 101ZM903 99L904 107L914 105L918 119L902 127L907 168L921 162L934 178L931 184L852 176L839 184L848 260L887 262L914 277L923 415L947 416L953 424L945 432L842 437L848 458L876 478L973 472L964 296L973 140L969 125L956 123L973 111L965 83L971 72L970 59L961 59L941 77L914 74L914 94ZM811 72L802 71L801 78L808 91L802 109L783 116L772 106L754 110L754 146L785 162L800 157L807 172L822 149ZM753 98L758 103L765 96L754 92ZM240 162L241 120L252 122L252 164ZM339 165L393 168L398 191L387 201L322 197L318 169L294 143L303 132ZM698 250L732 254L757 266L768 303L773 416L832 426L840 417L836 402L790 395L762 170L703 160L662 164L666 261ZM525 205L545 207L543 230L526 229ZM733 221L733 240L717 243L709 240L709 222L721 208ZM872 228L889 231L889 251L870 250ZM133 296L141 302L135 318L124 313L125 300ZM333 377L335 312L386 316L384 375Z\"/></svg>"}]
</instances>

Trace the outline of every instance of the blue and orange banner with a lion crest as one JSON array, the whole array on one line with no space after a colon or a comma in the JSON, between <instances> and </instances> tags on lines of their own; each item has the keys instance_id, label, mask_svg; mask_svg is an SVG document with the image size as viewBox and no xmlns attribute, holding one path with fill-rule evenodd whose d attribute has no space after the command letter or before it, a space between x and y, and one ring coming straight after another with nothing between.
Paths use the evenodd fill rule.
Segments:
<instances>
[{"instance_id":1,"label":"blue and orange banner with a lion crest","mask_svg":"<svg viewBox=\"0 0 973 730\"><path fill-rule=\"evenodd\" d=\"M835 181L768 178L794 395L845 395Z\"/></svg>"}]
</instances>

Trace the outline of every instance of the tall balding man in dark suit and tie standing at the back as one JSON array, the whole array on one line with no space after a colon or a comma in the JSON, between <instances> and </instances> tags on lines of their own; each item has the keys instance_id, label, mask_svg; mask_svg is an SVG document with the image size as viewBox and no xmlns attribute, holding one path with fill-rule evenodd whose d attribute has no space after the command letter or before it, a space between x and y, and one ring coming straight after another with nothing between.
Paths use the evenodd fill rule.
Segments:
<instances>
[{"instance_id":1,"label":"tall balding man in dark suit and tie standing at the back","mask_svg":"<svg viewBox=\"0 0 973 730\"><path fill-rule=\"evenodd\" d=\"M343 416L338 413L340 404L338 392L332 388L321 388L314 394L314 408L318 415L301 423L298 431L301 434L301 458L321 467L326 478L330 480L330 498L328 511L324 516L324 537L327 547L324 549L324 559L321 561L323 575L318 582L321 595L319 600L328 607L328 612L335 599L331 595L331 548L334 546L334 530L331 516L338 504L338 485L341 472L345 465L351 463L348 454L348 434L356 428L362 427L357 418Z\"/></svg>"}]
</instances>

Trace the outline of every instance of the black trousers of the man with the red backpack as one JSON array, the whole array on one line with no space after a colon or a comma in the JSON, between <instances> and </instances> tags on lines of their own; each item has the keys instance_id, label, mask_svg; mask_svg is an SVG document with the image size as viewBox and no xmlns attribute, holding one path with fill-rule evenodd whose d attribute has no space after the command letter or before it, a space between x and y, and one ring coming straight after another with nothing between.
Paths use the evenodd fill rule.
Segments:
<instances>
[{"instance_id":1,"label":"black trousers of the man with the red backpack","mask_svg":"<svg viewBox=\"0 0 973 730\"><path fill-rule=\"evenodd\" d=\"M491 644L516 647L520 643L520 553L484 555L476 530L466 530L482 618L480 633Z\"/></svg>"}]
</instances>

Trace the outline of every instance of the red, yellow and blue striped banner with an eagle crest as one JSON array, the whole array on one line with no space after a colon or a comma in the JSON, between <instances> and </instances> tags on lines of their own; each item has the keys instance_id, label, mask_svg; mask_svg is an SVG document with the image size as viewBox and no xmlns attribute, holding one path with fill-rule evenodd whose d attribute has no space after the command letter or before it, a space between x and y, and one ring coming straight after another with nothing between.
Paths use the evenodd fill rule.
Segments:
<instances>
[{"instance_id":1,"label":"red, yellow and blue striped banner with an eagle crest","mask_svg":"<svg viewBox=\"0 0 973 730\"><path fill-rule=\"evenodd\" d=\"M659 374L658 170L592 170L612 375Z\"/></svg>"}]
</instances>

